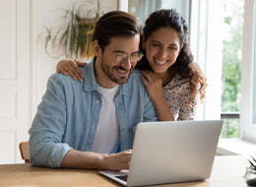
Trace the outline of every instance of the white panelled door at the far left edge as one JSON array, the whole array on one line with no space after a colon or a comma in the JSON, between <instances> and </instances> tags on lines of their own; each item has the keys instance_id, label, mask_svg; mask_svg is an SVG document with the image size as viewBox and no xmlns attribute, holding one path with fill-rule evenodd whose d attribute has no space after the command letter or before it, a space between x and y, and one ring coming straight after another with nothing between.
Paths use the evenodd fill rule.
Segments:
<instances>
[{"instance_id":1,"label":"white panelled door at the far left edge","mask_svg":"<svg viewBox=\"0 0 256 187\"><path fill-rule=\"evenodd\" d=\"M30 0L1 0L0 23L0 163L12 163L29 138Z\"/></svg>"}]
</instances>

